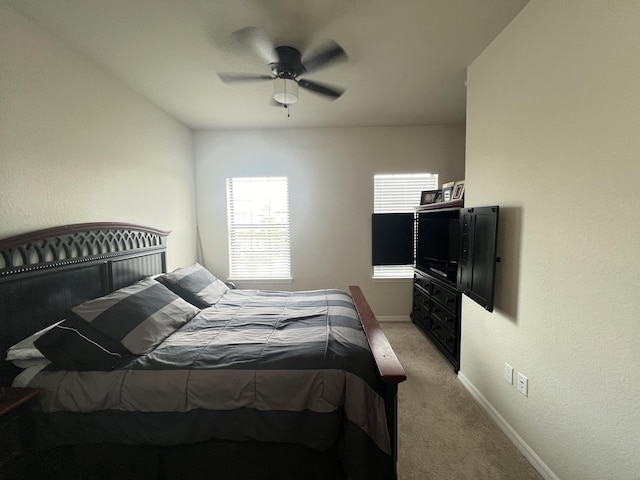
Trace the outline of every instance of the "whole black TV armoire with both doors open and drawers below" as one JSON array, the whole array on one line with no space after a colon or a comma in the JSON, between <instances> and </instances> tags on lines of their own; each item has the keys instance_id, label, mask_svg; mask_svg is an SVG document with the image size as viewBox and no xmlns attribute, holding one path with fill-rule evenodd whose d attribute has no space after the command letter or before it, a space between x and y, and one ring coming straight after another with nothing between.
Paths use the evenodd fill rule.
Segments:
<instances>
[{"instance_id":1,"label":"whole black TV armoire with both doors open and drawers below","mask_svg":"<svg viewBox=\"0 0 640 480\"><path fill-rule=\"evenodd\" d=\"M500 261L498 213L497 205L465 208L459 199L420 205L415 215L373 214L372 264L407 264L400 259L414 258L415 251L411 319L456 372L460 369L462 295L493 311L496 262ZM403 225L411 226L413 221L415 228L403 235L405 229L388 218L397 215L404 216ZM387 257L394 261L377 261Z\"/></svg>"}]
</instances>

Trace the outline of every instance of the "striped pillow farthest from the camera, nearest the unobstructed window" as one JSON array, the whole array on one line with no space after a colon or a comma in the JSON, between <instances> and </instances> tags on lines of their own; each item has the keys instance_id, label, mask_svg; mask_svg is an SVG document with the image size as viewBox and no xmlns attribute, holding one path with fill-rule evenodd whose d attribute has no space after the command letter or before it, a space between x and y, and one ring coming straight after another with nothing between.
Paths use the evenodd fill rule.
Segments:
<instances>
[{"instance_id":1,"label":"striped pillow farthest from the camera, nearest the unobstructed window","mask_svg":"<svg viewBox=\"0 0 640 480\"><path fill-rule=\"evenodd\" d=\"M196 263L158 277L157 280L193 305L206 308L215 304L229 287L209 270Z\"/></svg>"}]
</instances>

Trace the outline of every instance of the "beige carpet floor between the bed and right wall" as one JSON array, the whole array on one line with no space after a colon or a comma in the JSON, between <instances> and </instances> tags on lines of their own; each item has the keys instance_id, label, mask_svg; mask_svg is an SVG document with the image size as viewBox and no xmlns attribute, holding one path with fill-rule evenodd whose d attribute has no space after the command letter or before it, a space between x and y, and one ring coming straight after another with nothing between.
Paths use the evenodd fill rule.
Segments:
<instances>
[{"instance_id":1,"label":"beige carpet floor between the bed and right wall","mask_svg":"<svg viewBox=\"0 0 640 480\"><path fill-rule=\"evenodd\" d=\"M383 328L407 372L398 395L399 480L542 478L413 323Z\"/></svg>"}]
</instances>

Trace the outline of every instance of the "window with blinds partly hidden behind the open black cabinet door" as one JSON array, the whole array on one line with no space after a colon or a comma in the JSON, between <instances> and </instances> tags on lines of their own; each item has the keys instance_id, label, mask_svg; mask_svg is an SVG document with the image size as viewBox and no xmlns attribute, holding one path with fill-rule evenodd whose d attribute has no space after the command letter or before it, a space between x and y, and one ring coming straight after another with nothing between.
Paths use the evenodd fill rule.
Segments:
<instances>
[{"instance_id":1,"label":"window with blinds partly hidden behind the open black cabinet door","mask_svg":"<svg viewBox=\"0 0 640 480\"><path fill-rule=\"evenodd\" d=\"M420 205L423 190L438 188L438 174L374 175L373 213L411 213ZM375 265L373 278L413 278L413 267Z\"/></svg>"}]
</instances>

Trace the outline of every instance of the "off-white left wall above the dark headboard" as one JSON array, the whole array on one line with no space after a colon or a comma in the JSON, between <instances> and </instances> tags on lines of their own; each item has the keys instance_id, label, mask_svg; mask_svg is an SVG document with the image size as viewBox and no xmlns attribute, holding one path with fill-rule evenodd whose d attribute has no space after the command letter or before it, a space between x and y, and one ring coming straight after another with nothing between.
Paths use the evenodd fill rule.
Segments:
<instances>
[{"instance_id":1,"label":"off-white left wall above the dark headboard","mask_svg":"<svg viewBox=\"0 0 640 480\"><path fill-rule=\"evenodd\" d=\"M192 155L186 127L0 2L0 238L123 221L191 263Z\"/></svg>"}]
</instances>

